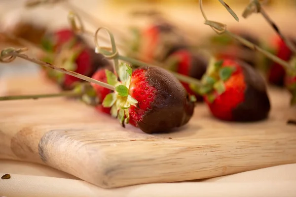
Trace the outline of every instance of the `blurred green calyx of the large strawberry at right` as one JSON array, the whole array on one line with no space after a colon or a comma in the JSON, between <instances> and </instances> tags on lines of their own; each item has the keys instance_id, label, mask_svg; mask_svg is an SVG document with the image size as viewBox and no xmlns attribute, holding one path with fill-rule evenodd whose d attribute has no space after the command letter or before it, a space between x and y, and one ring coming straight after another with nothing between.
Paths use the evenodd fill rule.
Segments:
<instances>
[{"instance_id":1,"label":"blurred green calyx of the large strawberry at right","mask_svg":"<svg viewBox=\"0 0 296 197\"><path fill-rule=\"evenodd\" d=\"M213 102L219 95L222 95L226 88L226 82L235 71L234 66L222 66L223 61L212 59L208 69L201 79L201 86L190 85L190 88L201 96L205 96L209 102Z\"/></svg>"}]
</instances>

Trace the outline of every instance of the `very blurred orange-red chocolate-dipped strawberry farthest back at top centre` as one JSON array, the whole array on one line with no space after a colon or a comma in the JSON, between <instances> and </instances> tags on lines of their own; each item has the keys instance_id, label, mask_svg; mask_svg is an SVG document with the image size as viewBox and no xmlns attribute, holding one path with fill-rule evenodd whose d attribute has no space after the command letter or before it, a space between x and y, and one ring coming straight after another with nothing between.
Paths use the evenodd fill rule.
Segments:
<instances>
[{"instance_id":1,"label":"very blurred orange-red chocolate-dipped strawberry farthest back at top centre","mask_svg":"<svg viewBox=\"0 0 296 197\"><path fill-rule=\"evenodd\" d=\"M175 50L185 47L183 36L176 28L166 22L159 22L149 26L144 31L133 30L134 40L129 56L151 63L164 61ZM137 52L141 57L134 55Z\"/></svg>"}]
</instances>

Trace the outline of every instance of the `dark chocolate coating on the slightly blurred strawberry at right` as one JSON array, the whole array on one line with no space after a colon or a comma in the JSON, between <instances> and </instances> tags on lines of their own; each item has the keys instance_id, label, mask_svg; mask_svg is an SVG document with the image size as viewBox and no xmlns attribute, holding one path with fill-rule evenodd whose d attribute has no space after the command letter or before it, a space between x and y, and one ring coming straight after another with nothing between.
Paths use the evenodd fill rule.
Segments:
<instances>
[{"instance_id":1,"label":"dark chocolate coating on the slightly blurred strawberry at right","mask_svg":"<svg viewBox=\"0 0 296 197\"><path fill-rule=\"evenodd\" d=\"M247 88L245 101L232 110L234 121L251 122L266 119L270 111L270 101L263 77L247 63L237 62L243 69Z\"/></svg>"}]
</instances>

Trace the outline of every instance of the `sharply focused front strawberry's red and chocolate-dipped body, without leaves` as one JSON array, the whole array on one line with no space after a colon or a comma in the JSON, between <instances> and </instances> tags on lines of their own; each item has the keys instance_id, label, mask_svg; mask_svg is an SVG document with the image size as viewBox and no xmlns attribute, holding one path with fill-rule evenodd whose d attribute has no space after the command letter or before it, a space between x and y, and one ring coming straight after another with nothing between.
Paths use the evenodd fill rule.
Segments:
<instances>
[{"instance_id":1,"label":"sharply focused front strawberry's red and chocolate-dipped body, without leaves","mask_svg":"<svg viewBox=\"0 0 296 197\"><path fill-rule=\"evenodd\" d=\"M132 73L129 94L138 105L129 108L130 124L147 133L185 125L193 114L182 84L160 67L142 67Z\"/></svg>"}]
</instances>

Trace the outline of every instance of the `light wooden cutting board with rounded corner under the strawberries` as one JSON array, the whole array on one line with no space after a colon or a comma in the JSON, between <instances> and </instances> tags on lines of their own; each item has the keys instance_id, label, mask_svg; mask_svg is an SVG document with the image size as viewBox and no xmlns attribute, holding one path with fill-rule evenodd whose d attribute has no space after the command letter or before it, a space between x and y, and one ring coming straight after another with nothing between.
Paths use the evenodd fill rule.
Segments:
<instances>
[{"instance_id":1,"label":"light wooden cutting board with rounded corner under the strawberries","mask_svg":"<svg viewBox=\"0 0 296 197\"><path fill-rule=\"evenodd\" d=\"M16 80L17 79L17 80ZM1 95L57 92L39 76L0 81ZM269 90L270 118L252 124L214 119L204 104L183 128L146 134L63 98L0 102L0 158L49 165L103 188L217 177L296 163L296 108Z\"/></svg>"}]
</instances>

